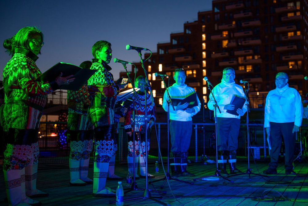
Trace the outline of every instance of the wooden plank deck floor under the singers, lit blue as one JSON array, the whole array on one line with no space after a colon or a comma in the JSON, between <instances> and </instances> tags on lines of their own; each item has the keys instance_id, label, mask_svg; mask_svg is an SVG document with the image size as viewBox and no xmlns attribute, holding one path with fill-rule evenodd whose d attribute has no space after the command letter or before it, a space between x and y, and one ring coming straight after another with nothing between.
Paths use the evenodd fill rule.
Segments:
<instances>
[{"instance_id":1,"label":"wooden plank deck floor under the singers, lit blue","mask_svg":"<svg viewBox=\"0 0 308 206\"><path fill-rule=\"evenodd\" d=\"M237 168L246 171L247 162L241 160L237 163ZM154 173L154 165L149 165L149 172ZM267 162L251 161L250 168L253 172L259 174L267 168ZM202 165L201 163L188 164L188 170L196 174L195 178L214 174L216 164ZM126 177L127 165L116 165L116 174ZM163 168L160 165L160 173L156 175L155 179L163 178ZM169 180L164 188L160 186L164 181L154 183L154 187L149 184L148 188L154 188L159 191L166 191L166 195L161 195L160 201L170 205L308 205L308 164L296 163L295 171L297 175L286 175L284 166L279 164L278 174L269 175L269 177L262 177L259 175L239 175L229 177L233 183L225 181L220 178L219 181L204 181L197 180L194 185L181 183L174 180ZM89 172L89 177L93 176L93 172ZM153 180L155 180L153 179ZM193 178L179 177L181 180L193 182ZM125 183L124 179L124 185ZM145 179L136 180L139 188L145 188ZM116 189L117 181L108 181L107 186ZM0 173L0 188L4 191L3 173ZM48 197L36 198L41 201L43 205L108 205L109 200L115 198L95 198L92 197L92 185L84 187L72 187L69 185L69 172L66 165L43 165L39 164L38 172L38 188L42 191L50 193ZM125 188L125 187L124 187ZM158 193L151 192L152 196L158 196ZM173 195L174 196L173 196ZM280 194L289 201L272 201L259 202L252 200L252 197L268 195L273 197L280 197ZM143 191L136 190L125 194L124 199L142 197ZM5 193L0 192L0 205L7 205L5 201ZM112 204L114 205L114 204ZM136 199L125 201L124 205L160 205L149 199Z\"/></svg>"}]
</instances>

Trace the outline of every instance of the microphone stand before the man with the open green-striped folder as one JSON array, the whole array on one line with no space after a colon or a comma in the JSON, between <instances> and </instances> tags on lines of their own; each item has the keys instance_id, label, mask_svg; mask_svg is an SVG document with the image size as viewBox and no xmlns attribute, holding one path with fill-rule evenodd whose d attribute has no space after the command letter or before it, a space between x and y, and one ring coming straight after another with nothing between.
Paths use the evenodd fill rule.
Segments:
<instances>
[{"instance_id":1,"label":"microphone stand before the man with the open green-striped folder","mask_svg":"<svg viewBox=\"0 0 308 206\"><path fill-rule=\"evenodd\" d=\"M191 183L191 182L187 182L187 181L183 181L183 180L180 180L180 179L177 179L177 178L175 178L175 177L172 177L171 175L170 175L170 173L169 173L169 153L170 153L170 149L169 149L169 130L170 130L170 128L169 128L169 122L170 122L170 104L171 104L171 106L172 106L172 109L173 109L173 111L175 111L175 108L174 108L174 106L173 106L173 103L172 103L172 101L171 101L171 97L170 97L170 94L169 94L169 90L168 90L168 87L166 86L166 83L165 83L165 81L164 81L164 77L163 76L161 76L161 79L163 80L163 82L164 82L164 86L165 86L165 88L166 88L166 91L167 91L167 140L168 140L168 149L167 149L167 173L165 174L165 177L164 178L161 178L161 179L158 179L158 180L155 180L155 181L152 181L152 183L155 183L155 182L158 182L158 181L161 181L161 180L165 180L164 181L164 184L162 185L162 186L160 186L160 188L162 189L162 188L164 188L164 185L167 183L167 181L168 181L168 179L171 179L171 180L176 180L176 181L178 181L178 182L182 182L182 183L187 183L187 184L191 184L191 185L193 185L193 183ZM149 182L149 184L150 184L150 182Z\"/></svg>"}]
</instances>

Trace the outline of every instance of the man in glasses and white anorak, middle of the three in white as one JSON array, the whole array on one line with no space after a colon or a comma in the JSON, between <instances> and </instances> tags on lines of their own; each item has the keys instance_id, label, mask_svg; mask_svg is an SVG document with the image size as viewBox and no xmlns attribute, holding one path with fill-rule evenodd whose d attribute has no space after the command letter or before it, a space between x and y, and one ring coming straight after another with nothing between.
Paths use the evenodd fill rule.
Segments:
<instances>
[{"instance_id":1,"label":"man in glasses and white anorak, middle of the three in white","mask_svg":"<svg viewBox=\"0 0 308 206\"><path fill-rule=\"evenodd\" d=\"M221 110L217 109L217 153L218 169L222 174L228 174L226 170L227 159L229 162L230 173L239 172L236 168L236 150L237 139L240 131L241 116L247 111L247 105L244 103L242 108L238 108L233 115L227 110L234 110L234 105L230 104L234 95L245 98L243 88L234 82L235 71L232 67L226 67L222 72L221 83L217 84L212 92ZM208 107L214 110L214 99L212 93L209 95Z\"/></svg>"}]
</instances>

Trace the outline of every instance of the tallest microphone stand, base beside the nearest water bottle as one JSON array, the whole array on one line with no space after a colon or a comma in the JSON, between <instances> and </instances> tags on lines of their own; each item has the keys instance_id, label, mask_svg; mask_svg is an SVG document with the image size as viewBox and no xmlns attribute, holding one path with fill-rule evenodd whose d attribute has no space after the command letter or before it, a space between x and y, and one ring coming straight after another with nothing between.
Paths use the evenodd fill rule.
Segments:
<instances>
[{"instance_id":1,"label":"tallest microphone stand, base beside the nearest water bottle","mask_svg":"<svg viewBox=\"0 0 308 206\"><path fill-rule=\"evenodd\" d=\"M139 53L139 57L141 59L141 65L142 65L142 68L144 69L144 60L142 59L142 54L141 54L141 49L140 50L137 50L138 53ZM124 65L124 64L123 64ZM150 88L150 84L149 84L149 81L148 81L148 75L147 75L147 72L146 70L144 69L144 73L145 73L145 80ZM134 86L133 86L134 88ZM167 203L164 203L160 200L156 200L155 198L161 198L161 196L152 196L151 195L151 192L150 190L148 189L148 119L147 119L147 116L148 116L148 112L147 112L147 94L146 94L146 91L147 90L144 90L144 95L145 95L145 127L146 127L146 132L145 132L145 189L139 189L139 188L136 188L137 190L144 190L144 193L143 193L143 196L140 196L140 197L135 197L135 198L129 198L129 199L124 199L124 201L128 201L128 200L136 200L136 199L150 199L150 200L153 200L153 201L156 201L158 202L159 204L162 204L162 205L170 205L170 204L167 204ZM152 90L150 89L150 93L151 93L151 98L152 98L152 103L153 102L153 94L152 94ZM136 95L138 96L138 95ZM139 100L139 99L138 99ZM141 107L141 105L140 105ZM134 119L134 123L135 123L135 119ZM135 129L135 128L134 128ZM135 134L135 131L133 130L134 134ZM134 140L135 141L135 140ZM135 142L133 143L133 145L135 145ZM133 147L134 148L134 147ZM134 154L135 154L135 150L134 150ZM135 159L135 158L134 158ZM135 161L134 161L135 162ZM134 164L134 167L135 167L135 164ZM135 175L135 173L134 173ZM135 177L134 177L135 179ZM133 187L133 186L132 186ZM166 191L156 191L156 190L151 190L153 192L158 192L158 193L162 193L162 194L167 194ZM109 203L114 203L115 201L110 201Z\"/></svg>"}]
</instances>

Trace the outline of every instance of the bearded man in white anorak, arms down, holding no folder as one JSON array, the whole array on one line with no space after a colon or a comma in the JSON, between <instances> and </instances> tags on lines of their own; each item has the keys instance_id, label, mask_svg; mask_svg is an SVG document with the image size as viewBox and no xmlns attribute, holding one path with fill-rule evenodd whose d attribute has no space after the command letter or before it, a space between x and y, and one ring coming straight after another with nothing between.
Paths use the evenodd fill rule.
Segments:
<instances>
[{"instance_id":1,"label":"bearded man in white anorak, arms down, holding no folder","mask_svg":"<svg viewBox=\"0 0 308 206\"><path fill-rule=\"evenodd\" d=\"M264 174L277 174L282 137L285 145L285 174L296 174L293 170L296 132L302 124L303 105L298 91L289 87L289 77L284 72L276 74L276 89L266 96L264 127L270 137L270 164Z\"/></svg>"}]
</instances>

